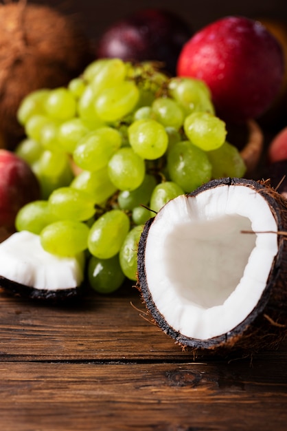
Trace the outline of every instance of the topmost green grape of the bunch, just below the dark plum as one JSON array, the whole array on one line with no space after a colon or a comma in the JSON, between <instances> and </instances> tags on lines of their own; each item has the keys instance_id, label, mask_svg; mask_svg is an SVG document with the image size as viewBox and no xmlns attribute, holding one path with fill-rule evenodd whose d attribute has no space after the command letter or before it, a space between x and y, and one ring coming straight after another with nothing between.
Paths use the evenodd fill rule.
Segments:
<instances>
[{"instance_id":1,"label":"topmost green grape of the bunch, just below the dark plum","mask_svg":"<svg viewBox=\"0 0 287 431\"><path fill-rule=\"evenodd\" d=\"M124 81L126 76L126 65L120 59L108 59L104 63L100 63L97 67L97 72L91 79L91 87L94 94L98 94L102 90L115 87Z\"/></svg>"}]
</instances>

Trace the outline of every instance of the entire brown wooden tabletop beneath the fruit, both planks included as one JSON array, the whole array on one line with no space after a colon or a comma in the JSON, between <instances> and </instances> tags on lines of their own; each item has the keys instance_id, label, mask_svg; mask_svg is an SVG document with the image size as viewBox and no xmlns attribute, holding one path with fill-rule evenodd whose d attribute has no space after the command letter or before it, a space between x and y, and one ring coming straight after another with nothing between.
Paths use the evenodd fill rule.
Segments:
<instances>
[{"instance_id":1,"label":"entire brown wooden tabletop beneath the fruit, both planks included","mask_svg":"<svg viewBox=\"0 0 287 431\"><path fill-rule=\"evenodd\" d=\"M1 292L0 306L3 431L287 430L287 343L194 358L132 286L73 306Z\"/></svg>"}]
</instances>

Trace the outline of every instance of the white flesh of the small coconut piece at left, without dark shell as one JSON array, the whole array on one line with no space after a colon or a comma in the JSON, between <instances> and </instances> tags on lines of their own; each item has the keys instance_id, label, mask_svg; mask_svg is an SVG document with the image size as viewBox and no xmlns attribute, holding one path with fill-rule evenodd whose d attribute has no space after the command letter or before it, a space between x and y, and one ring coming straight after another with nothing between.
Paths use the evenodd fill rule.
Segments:
<instances>
[{"instance_id":1,"label":"white flesh of the small coconut piece at left, without dark shell","mask_svg":"<svg viewBox=\"0 0 287 431\"><path fill-rule=\"evenodd\" d=\"M83 269L76 257L47 253L40 237L21 231L0 244L0 275L39 290L58 291L80 286Z\"/></svg>"}]
</instances>

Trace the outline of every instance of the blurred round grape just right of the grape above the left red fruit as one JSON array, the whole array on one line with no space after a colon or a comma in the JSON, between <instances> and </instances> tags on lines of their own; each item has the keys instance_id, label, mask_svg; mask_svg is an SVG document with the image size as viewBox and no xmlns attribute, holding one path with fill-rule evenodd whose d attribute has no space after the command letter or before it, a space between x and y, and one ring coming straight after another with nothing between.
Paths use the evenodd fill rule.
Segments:
<instances>
[{"instance_id":1,"label":"blurred round grape just right of the grape above the left red fruit","mask_svg":"<svg viewBox=\"0 0 287 431\"><path fill-rule=\"evenodd\" d=\"M62 151L49 151L46 149L38 160L38 173L44 176L59 176L69 165L67 154Z\"/></svg>"}]
</instances>

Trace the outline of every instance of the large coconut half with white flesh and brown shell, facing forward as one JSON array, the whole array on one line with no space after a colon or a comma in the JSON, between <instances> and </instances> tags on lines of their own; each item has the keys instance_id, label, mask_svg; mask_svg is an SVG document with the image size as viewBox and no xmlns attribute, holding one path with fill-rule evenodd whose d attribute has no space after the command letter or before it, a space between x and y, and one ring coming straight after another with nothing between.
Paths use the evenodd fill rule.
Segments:
<instances>
[{"instance_id":1,"label":"large coconut half with white flesh and brown shell, facing forward","mask_svg":"<svg viewBox=\"0 0 287 431\"><path fill-rule=\"evenodd\" d=\"M287 333L287 200L253 180L213 180L146 223L139 290L155 322L194 350L257 350Z\"/></svg>"}]
</instances>

